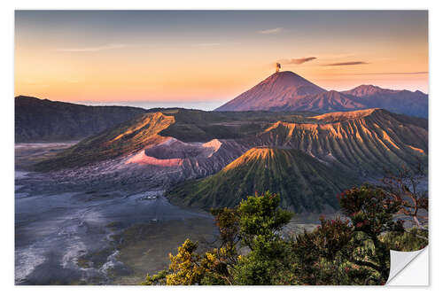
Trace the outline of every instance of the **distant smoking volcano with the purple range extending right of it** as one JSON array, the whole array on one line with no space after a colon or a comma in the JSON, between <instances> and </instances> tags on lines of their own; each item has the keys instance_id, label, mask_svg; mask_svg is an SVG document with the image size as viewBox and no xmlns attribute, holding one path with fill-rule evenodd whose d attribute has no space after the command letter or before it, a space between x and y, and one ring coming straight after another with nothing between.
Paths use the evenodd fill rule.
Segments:
<instances>
[{"instance_id":1,"label":"distant smoking volcano with the purple range extending right of it","mask_svg":"<svg viewBox=\"0 0 443 295\"><path fill-rule=\"evenodd\" d=\"M361 85L347 91L327 91L298 74L286 71L270 75L214 111L310 111L343 112L383 108L392 113L428 117L428 95L421 91L382 89Z\"/></svg>"}]
</instances>

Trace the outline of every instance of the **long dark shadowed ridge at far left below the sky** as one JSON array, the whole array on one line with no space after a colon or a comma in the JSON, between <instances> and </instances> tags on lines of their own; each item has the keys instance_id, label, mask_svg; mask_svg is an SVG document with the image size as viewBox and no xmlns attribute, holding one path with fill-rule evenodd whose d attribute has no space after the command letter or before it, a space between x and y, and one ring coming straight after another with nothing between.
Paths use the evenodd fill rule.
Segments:
<instances>
[{"instance_id":1,"label":"long dark shadowed ridge at far left below the sky","mask_svg":"<svg viewBox=\"0 0 443 295\"><path fill-rule=\"evenodd\" d=\"M75 105L15 97L15 142L63 141L95 135L146 113L129 106Z\"/></svg>"}]
</instances>

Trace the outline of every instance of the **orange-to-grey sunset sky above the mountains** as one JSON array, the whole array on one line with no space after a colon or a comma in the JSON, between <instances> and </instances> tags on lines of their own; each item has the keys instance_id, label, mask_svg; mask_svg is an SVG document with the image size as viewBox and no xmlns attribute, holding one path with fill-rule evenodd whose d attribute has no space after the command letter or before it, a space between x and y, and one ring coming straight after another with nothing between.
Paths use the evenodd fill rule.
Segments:
<instances>
[{"instance_id":1,"label":"orange-to-grey sunset sky above the mountains","mask_svg":"<svg viewBox=\"0 0 443 295\"><path fill-rule=\"evenodd\" d=\"M212 110L275 72L428 93L425 11L16 11L15 95Z\"/></svg>"}]
</instances>

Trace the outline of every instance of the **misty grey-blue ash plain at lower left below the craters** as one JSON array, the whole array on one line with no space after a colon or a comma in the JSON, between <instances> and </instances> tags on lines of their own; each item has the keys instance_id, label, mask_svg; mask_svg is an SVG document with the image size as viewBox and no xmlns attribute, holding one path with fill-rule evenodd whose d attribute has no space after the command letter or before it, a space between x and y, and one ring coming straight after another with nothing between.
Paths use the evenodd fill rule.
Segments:
<instances>
[{"instance_id":1,"label":"misty grey-blue ash plain at lower left below the craters","mask_svg":"<svg viewBox=\"0 0 443 295\"><path fill-rule=\"evenodd\" d=\"M97 177L99 171L88 180L88 168L71 169L59 181L31 171L72 144L16 144L16 284L137 284L167 268L167 254L186 238L201 251L216 245L214 218L171 205L164 197L170 182L113 182L119 175ZM298 216L284 234L315 223L318 215Z\"/></svg>"}]
</instances>

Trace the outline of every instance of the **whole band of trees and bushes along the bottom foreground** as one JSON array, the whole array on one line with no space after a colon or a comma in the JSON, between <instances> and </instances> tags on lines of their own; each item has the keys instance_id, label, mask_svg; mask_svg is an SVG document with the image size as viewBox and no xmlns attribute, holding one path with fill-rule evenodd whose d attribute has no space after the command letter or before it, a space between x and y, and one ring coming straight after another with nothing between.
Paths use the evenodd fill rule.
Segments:
<instances>
[{"instance_id":1,"label":"whole band of trees and bushes along the bottom foreground","mask_svg":"<svg viewBox=\"0 0 443 295\"><path fill-rule=\"evenodd\" d=\"M398 218L414 204L427 210L423 194L365 184L344 191L338 201L345 218L321 218L314 231L291 238L281 229L292 213L279 207L277 194L212 210L219 245L200 253L187 239L176 255L169 254L169 268L147 275L142 284L384 284L391 249L415 251L428 244L423 222L406 229Z\"/></svg>"}]
</instances>

